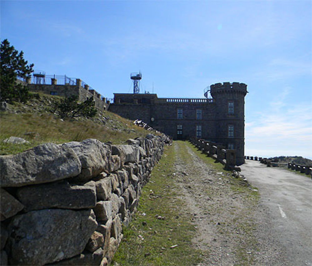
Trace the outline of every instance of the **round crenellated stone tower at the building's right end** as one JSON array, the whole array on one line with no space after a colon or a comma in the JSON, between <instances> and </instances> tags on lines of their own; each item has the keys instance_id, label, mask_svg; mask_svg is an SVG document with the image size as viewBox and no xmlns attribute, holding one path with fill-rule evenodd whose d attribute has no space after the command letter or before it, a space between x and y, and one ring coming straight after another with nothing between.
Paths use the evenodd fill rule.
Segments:
<instances>
[{"instance_id":1,"label":"round crenellated stone tower at the building's right end","mask_svg":"<svg viewBox=\"0 0 312 266\"><path fill-rule=\"evenodd\" d=\"M244 160L245 96L247 85L238 82L216 83L210 86L210 94L216 104L216 139L226 148L236 149L236 164Z\"/></svg>"}]
</instances>

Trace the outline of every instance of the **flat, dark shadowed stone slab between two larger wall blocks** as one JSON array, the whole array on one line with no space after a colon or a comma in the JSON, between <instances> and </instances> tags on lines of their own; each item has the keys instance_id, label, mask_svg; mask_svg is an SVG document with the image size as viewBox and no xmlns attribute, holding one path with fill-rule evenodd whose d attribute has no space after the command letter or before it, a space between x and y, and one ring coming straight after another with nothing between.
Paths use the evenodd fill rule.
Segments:
<instances>
[{"instance_id":1,"label":"flat, dark shadowed stone slab between two larger wall blocks","mask_svg":"<svg viewBox=\"0 0 312 266\"><path fill-rule=\"evenodd\" d=\"M17 198L25 205L25 210L49 208L90 209L96 204L95 182L75 186L68 181L24 186L17 190Z\"/></svg>"}]
</instances>

